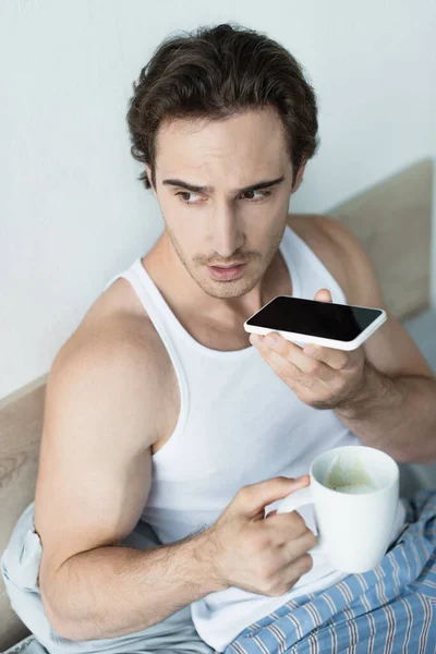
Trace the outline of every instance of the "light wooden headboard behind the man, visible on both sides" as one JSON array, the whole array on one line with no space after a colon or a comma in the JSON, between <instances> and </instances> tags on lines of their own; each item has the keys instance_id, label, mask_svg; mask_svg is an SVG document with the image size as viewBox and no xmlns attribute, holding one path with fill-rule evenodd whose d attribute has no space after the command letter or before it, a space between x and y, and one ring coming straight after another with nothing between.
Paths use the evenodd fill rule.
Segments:
<instances>
[{"instance_id":1,"label":"light wooden headboard behind the man, visible on both sides","mask_svg":"<svg viewBox=\"0 0 436 654\"><path fill-rule=\"evenodd\" d=\"M392 313L404 318L429 303L432 160L415 164L327 211L360 238L378 270ZM33 500L47 376L0 400L0 553ZM0 580L0 651L27 631Z\"/></svg>"}]
</instances>

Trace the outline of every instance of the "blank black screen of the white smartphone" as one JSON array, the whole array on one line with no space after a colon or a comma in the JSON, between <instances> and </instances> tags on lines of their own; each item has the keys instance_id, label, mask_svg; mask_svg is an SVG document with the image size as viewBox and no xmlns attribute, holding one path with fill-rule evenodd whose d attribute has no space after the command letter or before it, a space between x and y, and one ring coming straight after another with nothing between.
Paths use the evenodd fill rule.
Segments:
<instances>
[{"instance_id":1,"label":"blank black screen of the white smartphone","mask_svg":"<svg viewBox=\"0 0 436 654\"><path fill-rule=\"evenodd\" d=\"M247 325L352 341L382 311L348 304L279 295L247 320Z\"/></svg>"}]
</instances>

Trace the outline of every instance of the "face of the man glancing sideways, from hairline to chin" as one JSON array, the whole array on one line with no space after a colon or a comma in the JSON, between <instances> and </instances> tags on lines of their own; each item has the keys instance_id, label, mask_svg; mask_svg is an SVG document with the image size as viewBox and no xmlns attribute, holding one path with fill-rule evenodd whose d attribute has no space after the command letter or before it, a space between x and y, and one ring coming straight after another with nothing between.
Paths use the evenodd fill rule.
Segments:
<instances>
[{"instance_id":1,"label":"face of the man glancing sideways, from hairline to chin","mask_svg":"<svg viewBox=\"0 0 436 654\"><path fill-rule=\"evenodd\" d=\"M180 261L208 295L238 298L262 280L283 235L291 190L275 109L159 129L155 192ZM231 264L243 266L223 271Z\"/></svg>"}]
</instances>

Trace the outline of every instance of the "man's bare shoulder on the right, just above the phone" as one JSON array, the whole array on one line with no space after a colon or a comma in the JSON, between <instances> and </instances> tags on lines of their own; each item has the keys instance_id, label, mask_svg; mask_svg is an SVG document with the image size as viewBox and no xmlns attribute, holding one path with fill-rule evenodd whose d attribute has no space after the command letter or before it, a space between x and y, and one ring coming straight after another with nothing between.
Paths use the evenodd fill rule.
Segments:
<instances>
[{"instance_id":1,"label":"man's bare shoulder on the right, just above the phone","mask_svg":"<svg viewBox=\"0 0 436 654\"><path fill-rule=\"evenodd\" d=\"M289 227L308 245L342 288L347 302L382 306L374 265L351 230L331 216L291 214Z\"/></svg>"}]
</instances>

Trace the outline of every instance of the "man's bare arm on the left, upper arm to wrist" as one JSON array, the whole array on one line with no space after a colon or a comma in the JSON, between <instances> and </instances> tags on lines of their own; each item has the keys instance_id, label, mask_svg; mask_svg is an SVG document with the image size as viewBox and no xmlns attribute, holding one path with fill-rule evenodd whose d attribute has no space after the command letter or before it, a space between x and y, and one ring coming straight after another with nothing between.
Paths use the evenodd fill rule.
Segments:
<instances>
[{"instance_id":1,"label":"man's bare arm on the left, upper arm to wrist","mask_svg":"<svg viewBox=\"0 0 436 654\"><path fill-rule=\"evenodd\" d=\"M134 632L223 588L205 533L120 546L149 492L156 383L146 348L119 335L61 350L50 371L35 526L44 605L65 638Z\"/></svg>"}]
</instances>

